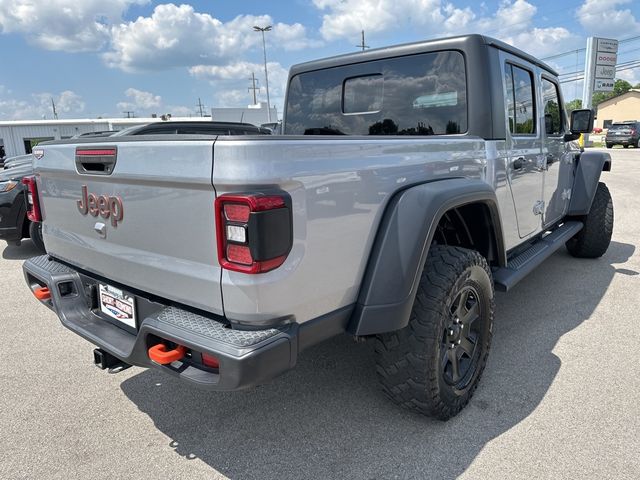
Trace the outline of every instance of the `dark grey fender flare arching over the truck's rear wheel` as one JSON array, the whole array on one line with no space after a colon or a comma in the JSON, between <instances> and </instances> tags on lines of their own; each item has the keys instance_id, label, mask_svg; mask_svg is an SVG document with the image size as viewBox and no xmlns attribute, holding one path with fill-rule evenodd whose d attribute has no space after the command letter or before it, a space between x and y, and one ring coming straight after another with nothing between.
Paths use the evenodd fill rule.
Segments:
<instances>
[{"instance_id":1,"label":"dark grey fender flare arching over the truck's rear wheel","mask_svg":"<svg viewBox=\"0 0 640 480\"><path fill-rule=\"evenodd\" d=\"M471 203L489 208L497 261L506 265L498 202L489 184L454 178L403 190L391 199L380 222L350 333L373 335L407 325L438 222L448 210Z\"/></svg>"}]
</instances>

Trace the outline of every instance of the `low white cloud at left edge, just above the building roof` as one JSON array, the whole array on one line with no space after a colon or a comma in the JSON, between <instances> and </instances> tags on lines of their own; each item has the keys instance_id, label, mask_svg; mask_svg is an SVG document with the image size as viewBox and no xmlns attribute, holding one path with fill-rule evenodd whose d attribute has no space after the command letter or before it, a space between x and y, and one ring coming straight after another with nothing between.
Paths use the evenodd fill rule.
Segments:
<instances>
[{"instance_id":1,"label":"low white cloud at left edge, just above the building roof","mask_svg":"<svg viewBox=\"0 0 640 480\"><path fill-rule=\"evenodd\" d=\"M0 90L0 118L8 120L53 118L52 99L59 117L74 117L85 109L82 97L71 90L65 90L58 95L47 92L34 93L30 100L3 98L7 92L10 91Z\"/></svg>"}]
</instances>

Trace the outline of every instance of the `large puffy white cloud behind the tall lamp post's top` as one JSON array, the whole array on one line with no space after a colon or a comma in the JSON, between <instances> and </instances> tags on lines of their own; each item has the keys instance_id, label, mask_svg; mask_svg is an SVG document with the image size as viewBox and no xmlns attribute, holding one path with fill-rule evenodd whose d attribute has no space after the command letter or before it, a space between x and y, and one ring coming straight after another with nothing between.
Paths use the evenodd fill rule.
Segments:
<instances>
[{"instance_id":1,"label":"large puffy white cloud behind the tall lamp post's top","mask_svg":"<svg viewBox=\"0 0 640 480\"><path fill-rule=\"evenodd\" d=\"M111 30L111 49L103 56L107 65L125 71L156 70L176 66L228 63L252 48L262 37L254 25L272 25L269 15L239 15L223 23L190 5L158 5L150 17L121 23ZM299 23L277 23L267 33L278 47L304 48L313 44Z\"/></svg>"}]
</instances>

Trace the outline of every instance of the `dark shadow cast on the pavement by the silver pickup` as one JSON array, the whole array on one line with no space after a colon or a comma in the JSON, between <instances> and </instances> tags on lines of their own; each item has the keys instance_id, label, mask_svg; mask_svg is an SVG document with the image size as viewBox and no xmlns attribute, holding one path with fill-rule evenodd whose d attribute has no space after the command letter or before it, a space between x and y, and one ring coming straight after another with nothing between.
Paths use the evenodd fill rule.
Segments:
<instances>
[{"instance_id":1,"label":"dark shadow cast on the pavement by the silver pickup","mask_svg":"<svg viewBox=\"0 0 640 480\"><path fill-rule=\"evenodd\" d=\"M564 249L497 296L493 347L469 406L439 422L393 405L372 348L346 336L305 351L297 367L246 392L209 393L146 370L124 393L172 441L230 478L455 478L487 442L527 418L559 369L553 349L588 320L635 247L597 260Z\"/></svg>"}]
</instances>

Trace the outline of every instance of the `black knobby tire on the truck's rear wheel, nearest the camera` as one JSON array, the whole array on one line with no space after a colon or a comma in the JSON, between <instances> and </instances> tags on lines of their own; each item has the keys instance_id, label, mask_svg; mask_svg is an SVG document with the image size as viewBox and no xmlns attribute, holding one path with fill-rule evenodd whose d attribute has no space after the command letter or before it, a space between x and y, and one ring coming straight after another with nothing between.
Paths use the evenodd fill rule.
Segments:
<instances>
[{"instance_id":1,"label":"black knobby tire on the truck's rear wheel, nearest the camera","mask_svg":"<svg viewBox=\"0 0 640 480\"><path fill-rule=\"evenodd\" d=\"M447 324L458 292L477 292L482 334L474 348L477 360L463 388L445 379ZM395 403L441 420L458 414L473 395L486 365L494 314L494 289L486 259L459 247L431 247L409 324L376 337L375 358L384 393ZM469 331L469 333L471 333ZM464 379L463 378L463 379Z\"/></svg>"}]
</instances>

